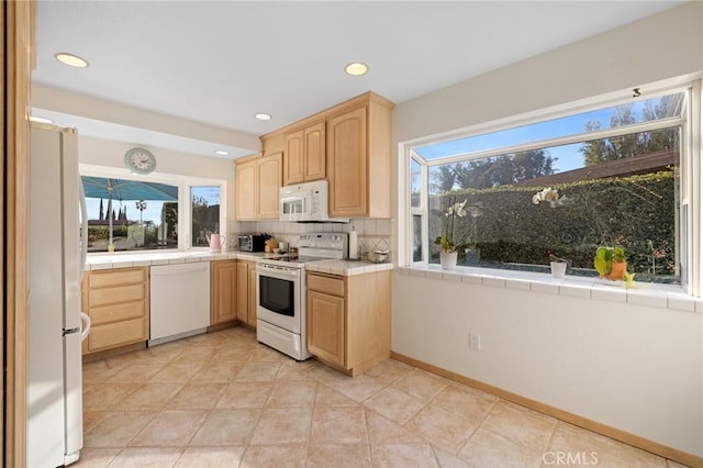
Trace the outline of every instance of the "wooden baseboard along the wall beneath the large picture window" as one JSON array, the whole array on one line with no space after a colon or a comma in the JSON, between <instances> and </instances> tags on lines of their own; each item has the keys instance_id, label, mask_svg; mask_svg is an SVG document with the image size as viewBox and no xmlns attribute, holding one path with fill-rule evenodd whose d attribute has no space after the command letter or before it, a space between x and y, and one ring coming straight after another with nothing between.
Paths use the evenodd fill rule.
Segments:
<instances>
[{"instance_id":1,"label":"wooden baseboard along the wall beneath the large picture window","mask_svg":"<svg viewBox=\"0 0 703 468\"><path fill-rule=\"evenodd\" d=\"M677 448L668 447L666 445L646 439L644 437L639 437L637 435L627 433L625 431L621 431L618 428L615 428L605 424L601 424L599 422L579 416L578 414L573 414L568 411L563 411L558 408L542 403L539 401L522 397L520 394L510 392L507 390L503 390L499 387L493 387L491 385L483 383L479 380L475 380L469 377L461 376L459 374L443 369L440 367L424 363L422 360L417 360L415 358L402 355L400 353L391 352L391 357L402 363L406 363L417 368L427 370L428 372L436 374L437 376L446 377L447 379L457 381L459 383L464 383L469 387L473 387L476 389L486 391L488 393L492 393L510 402L529 408L531 410L538 411L540 413L565 421L576 426L583 427L585 430L604 435L606 437L611 437L615 441L632 445L634 447L641 448L643 450L650 452L655 455L659 455L670 460L673 460L683 465L688 465L694 468L703 468L702 457L698 457L695 455L688 454Z\"/></svg>"}]
</instances>

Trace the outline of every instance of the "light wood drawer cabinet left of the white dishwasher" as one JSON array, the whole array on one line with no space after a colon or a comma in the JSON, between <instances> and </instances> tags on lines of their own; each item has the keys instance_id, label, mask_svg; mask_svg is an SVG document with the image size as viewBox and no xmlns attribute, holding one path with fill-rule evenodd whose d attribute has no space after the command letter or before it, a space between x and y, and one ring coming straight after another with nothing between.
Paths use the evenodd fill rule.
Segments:
<instances>
[{"instance_id":1,"label":"light wood drawer cabinet left of the white dishwasher","mask_svg":"<svg viewBox=\"0 0 703 468\"><path fill-rule=\"evenodd\" d=\"M86 271L81 302L91 321L83 354L148 339L148 267Z\"/></svg>"}]
</instances>

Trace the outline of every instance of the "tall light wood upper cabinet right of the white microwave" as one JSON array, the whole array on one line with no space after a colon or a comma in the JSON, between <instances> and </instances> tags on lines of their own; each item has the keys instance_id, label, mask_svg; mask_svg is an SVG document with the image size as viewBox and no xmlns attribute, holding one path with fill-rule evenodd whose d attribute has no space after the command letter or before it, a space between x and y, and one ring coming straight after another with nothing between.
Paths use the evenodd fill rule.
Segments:
<instances>
[{"instance_id":1,"label":"tall light wood upper cabinet right of the white microwave","mask_svg":"<svg viewBox=\"0 0 703 468\"><path fill-rule=\"evenodd\" d=\"M331 216L391 216L391 109L372 94L328 118Z\"/></svg>"}]
</instances>

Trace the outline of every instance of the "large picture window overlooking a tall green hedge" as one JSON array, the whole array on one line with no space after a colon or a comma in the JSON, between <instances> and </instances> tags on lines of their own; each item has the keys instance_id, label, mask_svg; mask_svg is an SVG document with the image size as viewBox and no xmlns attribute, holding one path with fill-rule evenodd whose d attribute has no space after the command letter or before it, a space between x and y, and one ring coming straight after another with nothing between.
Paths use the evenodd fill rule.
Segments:
<instances>
[{"instance_id":1,"label":"large picture window overlooking a tall green hedge","mask_svg":"<svg viewBox=\"0 0 703 468\"><path fill-rule=\"evenodd\" d=\"M447 208L461 266L596 276L600 245L625 248L638 281L681 283L681 160L690 90L415 146L408 258L439 263Z\"/></svg>"}]
</instances>

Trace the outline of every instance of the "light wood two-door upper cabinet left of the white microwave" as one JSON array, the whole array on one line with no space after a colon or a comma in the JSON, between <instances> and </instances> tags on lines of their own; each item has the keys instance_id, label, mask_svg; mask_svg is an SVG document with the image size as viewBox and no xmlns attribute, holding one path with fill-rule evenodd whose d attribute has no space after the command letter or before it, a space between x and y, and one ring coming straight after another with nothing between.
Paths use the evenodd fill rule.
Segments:
<instances>
[{"instance_id":1,"label":"light wood two-door upper cabinet left of the white microwave","mask_svg":"<svg viewBox=\"0 0 703 468\"><path fill-rule=\"evenodd\" d=\"M236 163L236 219L278 220L282 153L255 156Z\"/></svg>"}]
</instances>

